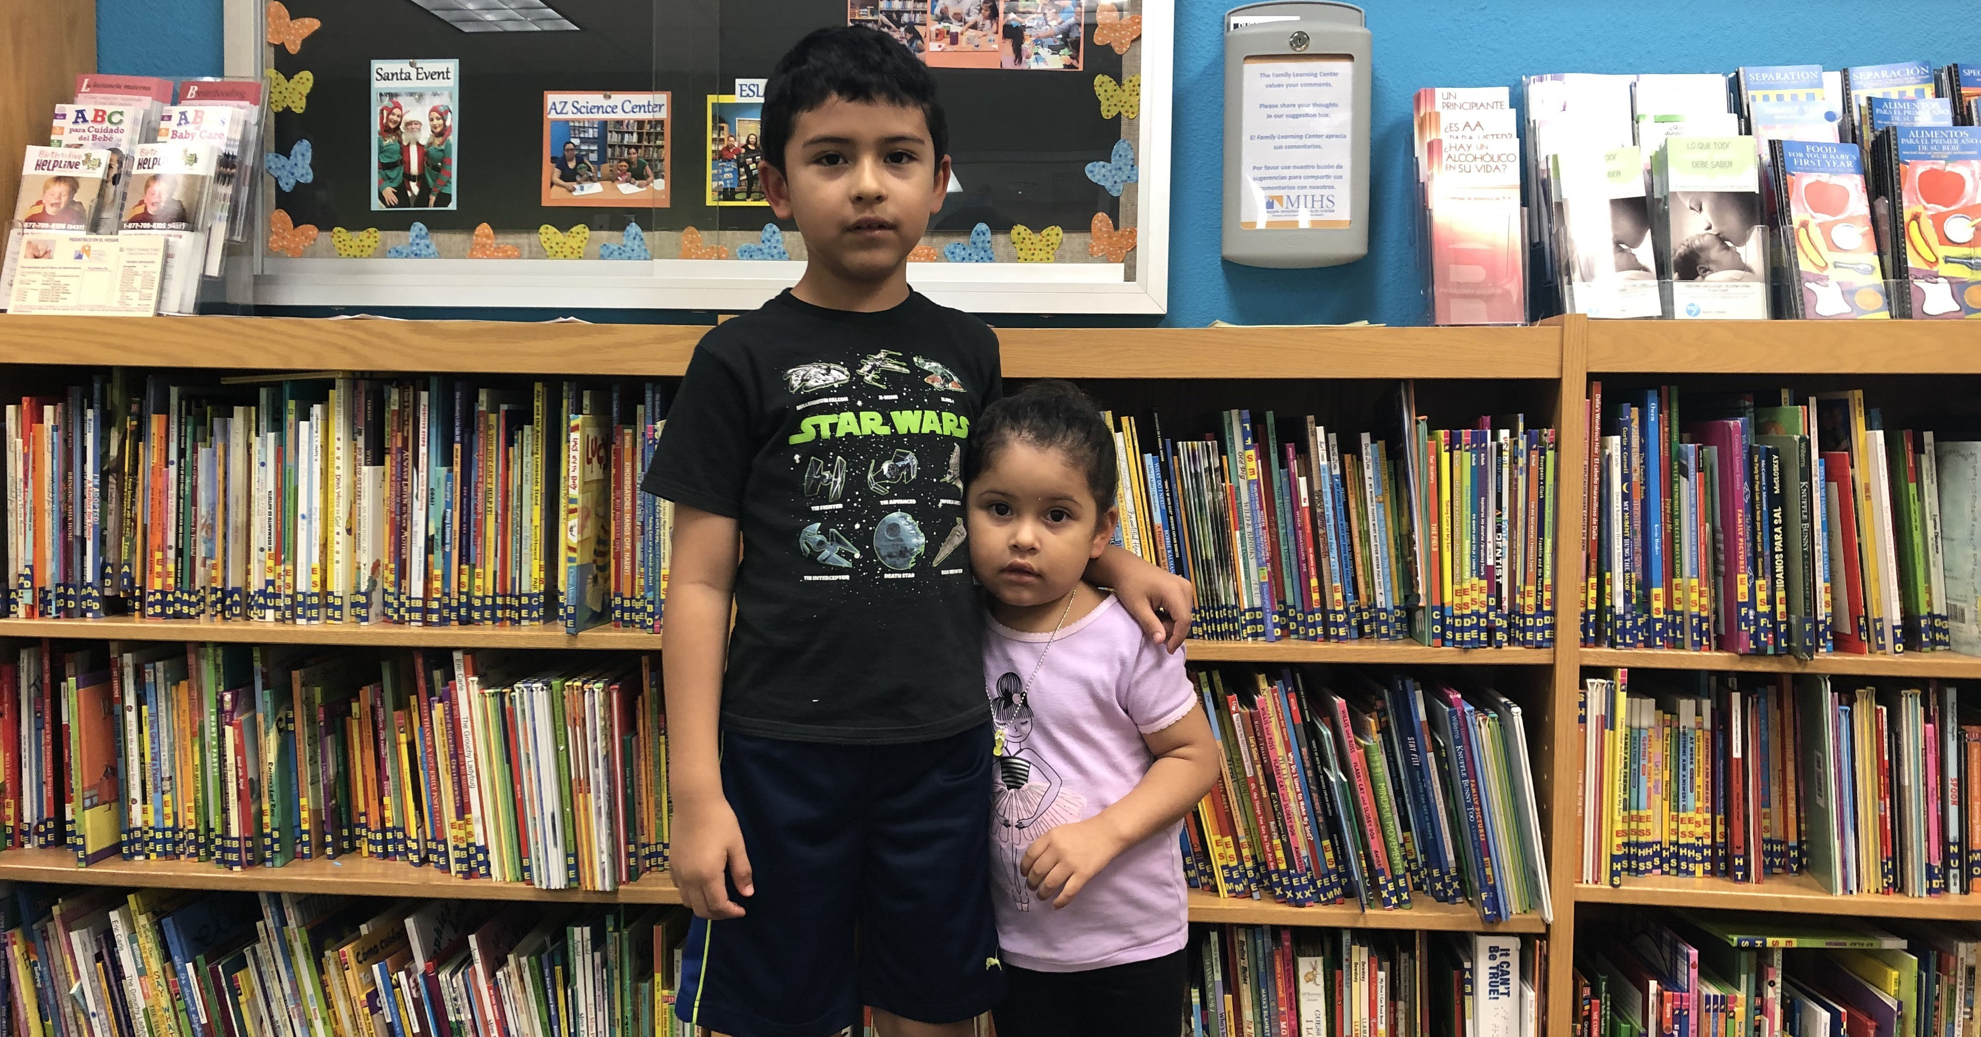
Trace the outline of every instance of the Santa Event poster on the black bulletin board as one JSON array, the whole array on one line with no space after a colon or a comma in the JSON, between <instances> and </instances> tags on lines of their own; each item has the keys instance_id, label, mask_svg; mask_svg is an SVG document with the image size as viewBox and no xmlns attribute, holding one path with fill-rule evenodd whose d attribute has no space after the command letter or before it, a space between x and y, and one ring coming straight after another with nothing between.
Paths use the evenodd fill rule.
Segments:
<instances>
[{"instance_id":1,"label":"Santa Event poster on the black bulletin board","mask_svg":"<svg viewBox=\"0 0 1981 1037\"><path fill-rule=\"evenodd\" d=\"M372 61L372 212L456 208L460 61Z\"/></svg>"}]
</instances>

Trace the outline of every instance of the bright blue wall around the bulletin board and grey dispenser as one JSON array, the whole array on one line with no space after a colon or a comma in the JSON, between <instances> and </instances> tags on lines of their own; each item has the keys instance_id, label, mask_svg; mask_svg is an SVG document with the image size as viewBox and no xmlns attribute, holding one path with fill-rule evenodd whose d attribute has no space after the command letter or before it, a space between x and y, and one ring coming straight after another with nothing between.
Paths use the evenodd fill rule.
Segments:
<instances>
[{"instance_id":1,"label":"bright blue wall around the bulletin board and grey dispenser","mask_svg":"<svg viewBox=\"0 0 1981 1037\"><path fill-rule=\"evenodd\" d=\"M638 2L638 0L628 0ZM1371 253L1268 271L1218 259L1224 12L1177 0L1169 325L1422 323L1410 241L1410 95L1539 71L1733 71L1924 59L1981 63L1981 4L1951 0L1367 0L1375 34ZM220 0L99 0L97 67L218 75Z\"/></svg>"}]
</instances>

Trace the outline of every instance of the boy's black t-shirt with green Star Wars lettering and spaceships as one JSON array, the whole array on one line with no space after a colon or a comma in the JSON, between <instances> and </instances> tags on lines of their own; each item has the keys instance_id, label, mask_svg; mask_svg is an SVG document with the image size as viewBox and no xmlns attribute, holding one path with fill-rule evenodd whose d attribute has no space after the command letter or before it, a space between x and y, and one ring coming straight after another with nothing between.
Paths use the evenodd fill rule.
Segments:
<instances>
[{"instance_id":1,"label":"boy's black t-shirt with green Star Wars lettering and spaceships","mask_svg":"<svg viewBox=\"0 0 1981 1037\"><path fill-rule=\"evenodd\" d=\"M989 718L963 443L996 334L919 293L846 313L784 291L695 346L642 489L737 518L723 724L915 742Z\"/></svg>"}]
</instances>

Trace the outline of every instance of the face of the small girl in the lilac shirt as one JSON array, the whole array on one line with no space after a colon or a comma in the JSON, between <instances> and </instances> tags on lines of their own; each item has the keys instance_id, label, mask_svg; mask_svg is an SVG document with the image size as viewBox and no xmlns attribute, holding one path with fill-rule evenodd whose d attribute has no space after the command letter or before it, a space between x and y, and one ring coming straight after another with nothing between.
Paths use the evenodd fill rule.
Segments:
<instances>
[{"instance_id":1,"label":"face of the small girl in the lilac shirt","mask_svg":"<svg viewBox=\"0 0 1981 1037\"><path fill-rule=\"evenodd\" d=\"M1058 449L1004 443L969 489L971 568L1006 606L1042 606L1074 590L1088 562L1107 550L1115 513Z\"/></svg>"}]
</instances>

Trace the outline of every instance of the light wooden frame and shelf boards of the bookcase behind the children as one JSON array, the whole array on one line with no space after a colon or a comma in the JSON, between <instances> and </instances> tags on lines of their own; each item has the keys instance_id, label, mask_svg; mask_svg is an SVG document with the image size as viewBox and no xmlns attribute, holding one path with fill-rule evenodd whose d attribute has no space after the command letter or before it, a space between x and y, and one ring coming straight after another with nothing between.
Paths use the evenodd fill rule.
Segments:
<instances>
[{"instance_id":1,"label":"light wooden frame and shelf boards of the bookcase behind the children","mask_svg":"<svg viewBox=\"0 0 1981 1037\"><path fill-rule=\"evenodd\" d=\"M321 321L192 317L155 319L133 334L129 321L48 319L0 315L0 390L10 376L48 378L40 366L156 366L218 372L440 372L511 376L679 376L707 327L679 325L525 325L473 321ZM1583 451L1581 406L1591 372L1597 376L1753 376L1795 380L1807 376L1935 376L1981 374L1981 325L1963 323L1591 323L1581 317L1529 329L1010 329L1000 332L1004 376L1074 378L1097 382L1103 394L1115 384L1147 384L1147 398L1202 400L1202 406L1242 406L1248 386L1278 398L1331 390L1339 380L1440 380L1478 382L1480 394L1506 382L1529 404L1529 420L1551 424L1561 457L1557 493L1563 511L1557 528L1579 524ZM16 370L18 368L18 370ZM30 374L36 372L36 374ZM1303 382L1280 386L1284 382ZM1462 386L1472 392L1470 384ZM1141 388L1129 386L1129 396ZM0 392L4 396L4 392ZM1535 406L1545 402L1541 406ZM1165 412L1167 414L1167 412ZM1543 837L1551 863L1553 920L1519 916L1488 926L1470 904L1420 902L1412 910L1361 912L1351 906L1290 908L1256 900L1191 896L1199 922L1296 924L1403 930L1504 930L1545 934L1551 940L1549 1007L1553 1035L1567 1033L1571 1011L1569 970L1575 960L1577 904L1624 908L1743 908L1870 918L1975 918L1981 896L1828 896L1807 877L1777 877L1759 885L1714 879L1634 879L1624 887L1577 883L1581 784L1577 697L1585 667L1644 667L1743 673L1826 673L1838 677L1975 679L1981 659L1953 653L1830 655L1813 661L1729 653L1622 651L1577 647L1577 588L1581 538L1561 536L1555 556L1555 649L1432 649L1414 643L1309 643L1309 641L1191 641L1193 661L1202 663L1357 663L1379 667L1494 665L1521 667L1510 683L1543 689L1523 701L1531 718ZM398 625L277 625L139 621L0 621L0 639L103 637L115 641L258 641L357 647L529 647L656 651L658 639L640 631L592 629L576 637L549 627L398 627ZM1531 669L1527 669L1531 667ZM1535 677L1529 681L1527 673ZM196 863L123 863L75 869L61 851L0 853L0 879L162 885L188 889L331 891L390 896L473 896L576 902L678 902L666 875L622 891L547 893L531 887L458 881L430 869L347 859L305 861L285 869L228 873Z\"/></svg>"}]
</instances>

